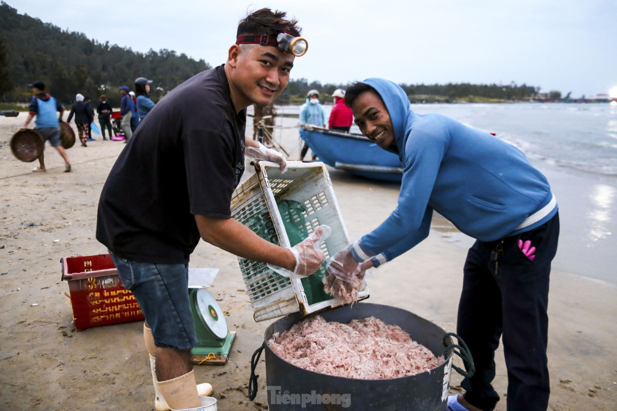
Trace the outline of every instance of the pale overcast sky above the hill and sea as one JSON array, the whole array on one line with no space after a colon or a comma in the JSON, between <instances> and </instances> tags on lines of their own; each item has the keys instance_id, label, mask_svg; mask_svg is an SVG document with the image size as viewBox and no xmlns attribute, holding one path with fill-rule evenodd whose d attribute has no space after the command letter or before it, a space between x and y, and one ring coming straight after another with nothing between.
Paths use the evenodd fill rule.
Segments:
<instances>
[{"instance_id":1,"label":"pale overcast sky above the hill and sea","mask_svg":"<svg viewBox=\"0 0 617 411\"><path fill-rule=\"evenodd\" d=\"M296 17L309 51L292 78L347 83L515 81L562 93L617 86L617 0L7 0L89 38L224 63L238 20L270 7Z\"/></svg>"}]
</instances>

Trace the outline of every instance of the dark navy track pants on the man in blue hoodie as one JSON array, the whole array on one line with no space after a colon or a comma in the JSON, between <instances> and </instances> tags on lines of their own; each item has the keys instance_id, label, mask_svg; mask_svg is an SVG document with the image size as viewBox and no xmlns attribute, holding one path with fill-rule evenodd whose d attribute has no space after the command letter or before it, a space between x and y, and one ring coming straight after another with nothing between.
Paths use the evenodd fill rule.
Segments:
<instances>
[{"instance_id":1,"label":"dark navy track pants on the man in blue hoodie","mask_svg":"<svg viewBox=\"0 0 617 411\"><path fill-rule=\"evenodd\" d=\"M555 214L529 232L494 242L476 241L467 254L457 333L471 350L476 373L461 385L465 399L479 409L492 410L499 401L491 381L500 336L508 369L508 411L546 411L549 405L547 306L558 237L559 214ZM518 248L519 239L531 240L536 247L534 261ZM495 272L491 251L502 241Z\"/></svg>"}]
</instances>

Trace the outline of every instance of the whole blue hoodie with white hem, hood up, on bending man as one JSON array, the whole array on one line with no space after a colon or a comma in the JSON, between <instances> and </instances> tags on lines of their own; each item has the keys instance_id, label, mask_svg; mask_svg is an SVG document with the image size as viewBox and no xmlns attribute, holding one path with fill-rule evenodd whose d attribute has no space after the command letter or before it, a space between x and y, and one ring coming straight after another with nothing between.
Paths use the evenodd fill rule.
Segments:
<instances>
[{"instance_id":1,"label":"whole blue hoodie with white hem, hood up, on bending man","mask_svg":"<svg viewBox=\"0 0 617 411\"><path fill-rule=\"evenodd\" d=\"M362 83L386 105L403 177L396 210L352 245L357 261L379 266L410 250L429 234L433 210L481 242L523 234L555 216L549 182L516 147L446 116L413 113L391 81Z\"/></svg>"}]
</instances>

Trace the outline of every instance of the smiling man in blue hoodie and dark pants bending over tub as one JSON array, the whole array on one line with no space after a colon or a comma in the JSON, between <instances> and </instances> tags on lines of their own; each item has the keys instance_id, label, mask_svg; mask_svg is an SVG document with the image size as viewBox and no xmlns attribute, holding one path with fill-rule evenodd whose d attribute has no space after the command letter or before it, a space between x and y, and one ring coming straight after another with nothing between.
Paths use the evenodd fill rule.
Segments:
<instances>
[{"instance_id":1,"label":"smiling man in blue hoodie and dark pants bending over tub","mask_svg":"<svg viewBox=\"0 0 617 411\"><path fill-rule=\"evenodd\" d=\"M549 182L520 150L437 114L410 110L396 84L370 78L347 89L362 134L399 155L404 169L397 208L373 232L328 264L331 283L390 261L429 234L433 210L476 238L463 269L457 333L476 372L451 396L452 410L494 409L494 352L503 338L508 411L546 410L550 263L559 217Z\"/></svg>"}]
</instances>

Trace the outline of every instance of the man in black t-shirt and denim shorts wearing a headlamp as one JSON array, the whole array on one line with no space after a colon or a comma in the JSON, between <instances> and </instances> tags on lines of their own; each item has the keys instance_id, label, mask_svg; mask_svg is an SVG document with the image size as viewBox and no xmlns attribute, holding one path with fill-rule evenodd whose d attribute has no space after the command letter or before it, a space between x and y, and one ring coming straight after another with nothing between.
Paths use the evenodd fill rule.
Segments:
<instances>
[{"instance_id":1,"label":"man in black t-shirt and denim shorts wearing a headlamp","mask_svg":"<svg viewBox=\"0 0 617 411\"><path fill-rule=\"evenodd\" d=\"M190 349L197 343L188 301L188 262L199 239L296 275L320 268L321 234L294 248L263 240L231 218L245 147L255 160L286 166L280 153L245 139L245 108L270 104L289 81L294 54L277 36L299 36L296 20L261 9L241 20L224 65L193 76L144 118L107 177L96 238L107 246L146 317L157 410L199 407ZM317 234L319 233L319 234ZM155 365L155 367L154 367ZM163 403L166 401L166 405Z\"/></svg>"}]
</instances>

